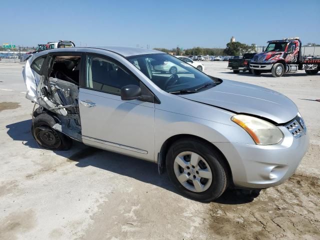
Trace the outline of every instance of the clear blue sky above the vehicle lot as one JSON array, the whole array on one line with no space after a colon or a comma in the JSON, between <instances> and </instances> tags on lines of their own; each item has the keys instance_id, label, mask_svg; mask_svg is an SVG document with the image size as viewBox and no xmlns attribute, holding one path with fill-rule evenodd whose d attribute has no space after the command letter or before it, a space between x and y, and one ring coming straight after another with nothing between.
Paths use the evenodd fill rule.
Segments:
<instances>
[{"instance_id":1,"label":"clear blue sky above the vehicle lot","mask_svg":"<svg viewBox=\"0 0 320 240\"><path fill-rule=\"evenodd\" d=\"M320 0L3 0L0 44L225 47L299 36L320 43Z\"/></svg>"}]
</instances>

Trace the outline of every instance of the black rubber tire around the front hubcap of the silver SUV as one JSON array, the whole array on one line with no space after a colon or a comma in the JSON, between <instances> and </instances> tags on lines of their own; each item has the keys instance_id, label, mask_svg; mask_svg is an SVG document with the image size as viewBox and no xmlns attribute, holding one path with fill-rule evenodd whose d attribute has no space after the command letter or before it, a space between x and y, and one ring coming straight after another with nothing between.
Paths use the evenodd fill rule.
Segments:
<instances>
[{"instance_id":1,"label":"black rubber tire around the front hubcap of the silver SUV","mask_svg":"<svg viewBox=\"0 0 320 240\"><path fill-rule=\"evenodd\" d=\"M194 192L184 187L174 173L174 159L184 151L192 151L200 155L209 165L212 181L202 192ZM173 185L185 196L199 201L210 201L219 197L228 185L228 171L223 156L205 141L195 138L185 138L174 142L166 154L166 172Z\"/></svg>"}]
</instances>

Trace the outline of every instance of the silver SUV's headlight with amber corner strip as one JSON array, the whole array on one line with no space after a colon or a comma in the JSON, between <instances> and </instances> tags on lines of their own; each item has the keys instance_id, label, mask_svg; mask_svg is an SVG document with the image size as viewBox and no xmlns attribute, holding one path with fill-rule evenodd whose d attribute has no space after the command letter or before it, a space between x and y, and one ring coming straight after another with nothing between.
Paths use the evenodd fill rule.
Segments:
<instances>
[{"instance_id":1,"label":"silver SUV's headlight with amber corner strip","mask_svg":"<svg viewBox=\"0 0 320 240\"><path fill-rule=\"evenodd\" d=\"M258 145L276 144L283 138L282 131L272 123L248 115L234 115L231 120L241 126Z\"/></svg>"}]
</instances>

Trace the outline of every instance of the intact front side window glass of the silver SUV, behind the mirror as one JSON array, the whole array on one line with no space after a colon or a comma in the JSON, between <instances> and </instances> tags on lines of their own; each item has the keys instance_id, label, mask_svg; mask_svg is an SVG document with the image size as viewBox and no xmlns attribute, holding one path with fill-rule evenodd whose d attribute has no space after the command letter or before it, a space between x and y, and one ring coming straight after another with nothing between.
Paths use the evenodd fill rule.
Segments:
<instances>
[{"instance_id":1,"label":"intact front side window glass of the silver SUV, behind the mirror","mask_svg":"<svg viewBox=\"0 0 320 240\"><path fill-rule=\"evenodd\" d=\"M117 64L98 57L87 56L85 86L111 94L120 94L121 87L139 82Z\"/></svg>"}]
</instances>

